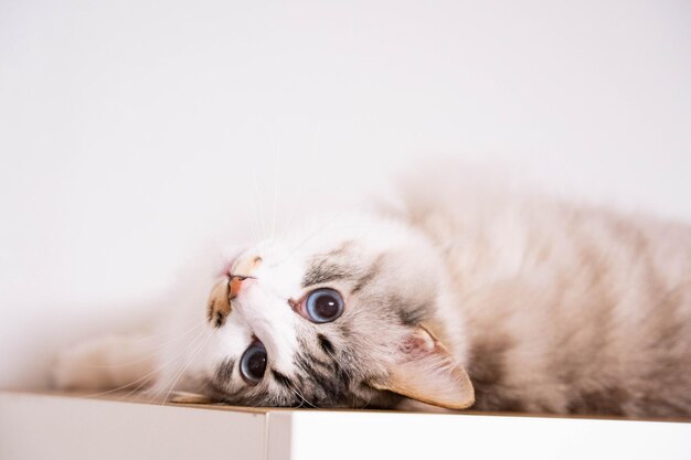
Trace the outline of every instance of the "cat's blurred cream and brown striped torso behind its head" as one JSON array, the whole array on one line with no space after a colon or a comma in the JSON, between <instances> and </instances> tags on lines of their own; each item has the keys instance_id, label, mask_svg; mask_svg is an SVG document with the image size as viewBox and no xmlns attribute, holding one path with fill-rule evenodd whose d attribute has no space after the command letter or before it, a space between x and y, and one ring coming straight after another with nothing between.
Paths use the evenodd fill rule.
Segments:
<instances>
[{"instance_id":1,"label":"cat's blurred cream and brown striped torso behind its head","mask_svg":"<svg viewBox=\"0 0 691 460\"><path fill-rule=\"evenodd\" d=\"M443 248L477 408L691 414L690 227L467 193L406 215Z\"/></svg>"}]
</instances>

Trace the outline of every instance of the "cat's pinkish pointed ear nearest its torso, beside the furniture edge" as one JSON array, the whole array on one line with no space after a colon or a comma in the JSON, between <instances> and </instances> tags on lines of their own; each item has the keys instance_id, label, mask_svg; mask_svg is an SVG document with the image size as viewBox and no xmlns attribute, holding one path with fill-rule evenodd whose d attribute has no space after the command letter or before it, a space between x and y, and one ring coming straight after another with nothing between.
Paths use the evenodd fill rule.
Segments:
<instances>
[{"instance_id":1,"label":"cat's pinkish pointed ear nearest its torso, beside the furniture edge","mask_svg":"<svg viewBox=\"0 0 691 460\"><path fill-rule=\"evenodd\" d=\"M465 409L475 403L475 391L466 371L422 327L403 338L387 372L386 377L371 385L448 409Z\"/></svg>"}]
</instances>

